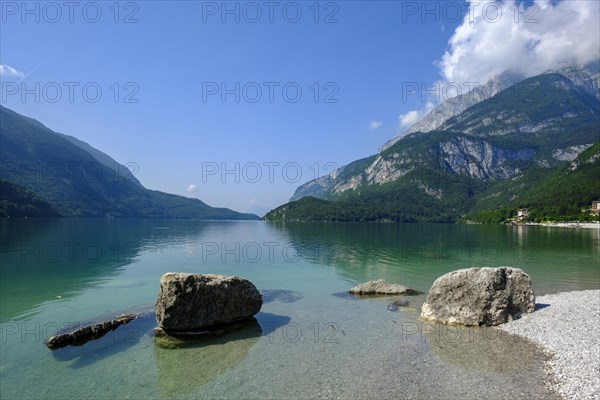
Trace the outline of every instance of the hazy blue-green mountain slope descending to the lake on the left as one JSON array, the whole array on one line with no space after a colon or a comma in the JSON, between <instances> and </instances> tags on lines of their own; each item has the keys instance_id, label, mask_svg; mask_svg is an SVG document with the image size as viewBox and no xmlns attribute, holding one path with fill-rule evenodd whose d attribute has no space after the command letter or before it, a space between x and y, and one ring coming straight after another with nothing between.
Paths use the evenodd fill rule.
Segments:
<instances>
[{"instance_id":1,"label":"hazy blue-green mountain slope descending to the lake on the left","mask_svg":"<svg viewBox=\"0 0 600 400\"><path fill-rule=\"evenodd\" d=\"M145 189L127 167L87 143L0 107L0 178L64 216L256 219Z\"/></svg>"}]
</instances>

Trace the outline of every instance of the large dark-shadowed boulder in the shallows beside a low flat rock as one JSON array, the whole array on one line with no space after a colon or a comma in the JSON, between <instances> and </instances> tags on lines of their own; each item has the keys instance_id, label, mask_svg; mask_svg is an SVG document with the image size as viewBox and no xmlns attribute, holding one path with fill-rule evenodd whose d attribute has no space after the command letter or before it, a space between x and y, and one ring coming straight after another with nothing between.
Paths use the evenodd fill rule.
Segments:
<instances>
[{"instance_id":1,"label":"large dark-shadowed boulder in the shallows beside a low flat rock","mask_svg":"<svg viewBox=\"0 0 600 400\"><path fill-rule=\"evenodd\" d=\"M262 303L252 282L238 276L167 273L160 278L156 321L166 332L218 328L252 317Z\"/></svg>"}]
</instances>

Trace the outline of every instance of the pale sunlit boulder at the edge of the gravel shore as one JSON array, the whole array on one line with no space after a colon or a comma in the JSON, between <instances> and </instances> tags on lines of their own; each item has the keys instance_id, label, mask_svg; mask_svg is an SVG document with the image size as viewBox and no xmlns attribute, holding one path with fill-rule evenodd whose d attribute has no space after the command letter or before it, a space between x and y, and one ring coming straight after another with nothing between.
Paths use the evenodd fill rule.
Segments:
<instances>
[{"instance_id":1,"label":"pale sunlit boulder at the edge of the gravel shore","mask_svg":"<svg viewBox=\"0 0 600 400\"><path fill-rule=\"evenodd\" d=\"M433 282L421 318L453 325L492 326L535 309L531 278L519 268L466 268Z\"/></svg>"}]
</instances>

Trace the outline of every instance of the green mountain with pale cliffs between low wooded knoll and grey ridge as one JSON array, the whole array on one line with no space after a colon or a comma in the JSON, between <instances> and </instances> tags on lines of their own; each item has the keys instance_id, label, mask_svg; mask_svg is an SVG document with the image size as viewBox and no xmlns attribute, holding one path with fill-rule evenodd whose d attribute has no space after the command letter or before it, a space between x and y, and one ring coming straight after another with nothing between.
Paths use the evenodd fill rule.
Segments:
<instances>
[{"instance_id":1,"label":"green mountain with pale cliffs between low wooded knoll and grey ridge","mask_svg":"<svg viewBox=\"0 0 600 400\"><path fill-rule=\"evenodd\" d=\"M598 140L600 101L546 73L309 182L292 200L342 201L361 220L456 220L514 201Z\"/></svg>"}]
</instances>

